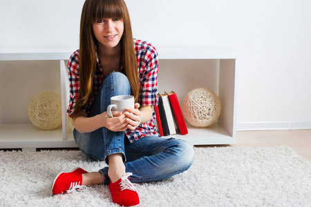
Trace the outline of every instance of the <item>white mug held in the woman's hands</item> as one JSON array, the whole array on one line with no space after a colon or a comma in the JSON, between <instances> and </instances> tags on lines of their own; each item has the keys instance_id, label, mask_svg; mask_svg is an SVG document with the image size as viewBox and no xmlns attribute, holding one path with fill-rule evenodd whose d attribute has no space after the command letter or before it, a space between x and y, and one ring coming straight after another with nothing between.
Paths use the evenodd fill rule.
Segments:
<instances>
[{"instance_id":1,"label":"white mug held in the woman's hands","mask_svg":"<svg viewBox=\"0 0 311 207\"><path fill-rule=\"evenodd\" d=\"M111 110L125 112L126 108L134 108L134 97L131 95L120 95L110 98L110 105L107 108L109 117L113 117Z\"/></svg>"}]
</instances>

